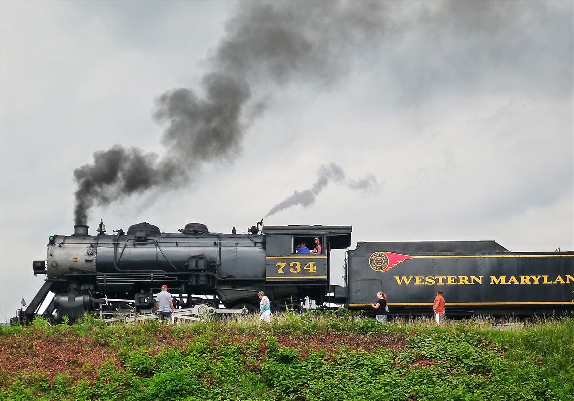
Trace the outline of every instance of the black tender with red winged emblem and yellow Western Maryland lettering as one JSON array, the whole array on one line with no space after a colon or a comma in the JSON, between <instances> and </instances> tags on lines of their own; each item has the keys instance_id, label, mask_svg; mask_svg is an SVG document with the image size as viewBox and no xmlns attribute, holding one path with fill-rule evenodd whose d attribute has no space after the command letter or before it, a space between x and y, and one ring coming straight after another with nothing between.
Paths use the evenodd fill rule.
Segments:
<instances>
[{"instance_id":1,"label":"black tender with red winged emblem and yellow Western Maryland lettering","mask_svg":"<svg viewBox=\"0 0 574 401\"><path fill-rule=\"evenodd\" d=\"M379 289L392 310L429 314L442 290L449 316L574 311L574 252L510 252L494 241L364 242L348 251L347 306L368 307Z\"/></svg>"}]
</instances>

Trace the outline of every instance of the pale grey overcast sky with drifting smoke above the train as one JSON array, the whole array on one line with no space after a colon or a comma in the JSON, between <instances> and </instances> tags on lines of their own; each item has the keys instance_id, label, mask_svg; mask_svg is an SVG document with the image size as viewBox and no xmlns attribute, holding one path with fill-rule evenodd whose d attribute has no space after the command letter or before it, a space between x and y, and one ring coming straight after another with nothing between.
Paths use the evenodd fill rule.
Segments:
<instances>
[{"instance_id":1,"label":"pale grey overcast sky with drifting smoke above the train","mask_svg":"<svg viewBox=\"0 0 574 401\"><path fill-rule=\"evenodd\" d=\"M574 250L571 1L0 7L1 321L73 232L74 170L114 145L177 174L102 188L91 233L243 232L297 191L266 225ZM330 163L344 180L314 186Z\"/></svg>"}]
</instances>

